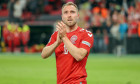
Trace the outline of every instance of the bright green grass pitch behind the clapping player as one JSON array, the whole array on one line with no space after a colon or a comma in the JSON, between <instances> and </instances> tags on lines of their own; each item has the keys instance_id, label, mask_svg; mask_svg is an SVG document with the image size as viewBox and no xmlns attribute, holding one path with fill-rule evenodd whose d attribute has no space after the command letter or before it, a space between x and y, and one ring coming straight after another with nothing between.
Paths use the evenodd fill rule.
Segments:
<instances>
[{"instance_id":1,"label":"bright green grass pitch behind the clapping player","mask_svg":"<svg viewBox=\"0 0 140 84\"><path fill-rule=\"evenodd\" d=\"M55 57L0 53L0 84L56 84ZM140 55L90 54L88 84L140 84Z\"/></svg>"}]
</instances>

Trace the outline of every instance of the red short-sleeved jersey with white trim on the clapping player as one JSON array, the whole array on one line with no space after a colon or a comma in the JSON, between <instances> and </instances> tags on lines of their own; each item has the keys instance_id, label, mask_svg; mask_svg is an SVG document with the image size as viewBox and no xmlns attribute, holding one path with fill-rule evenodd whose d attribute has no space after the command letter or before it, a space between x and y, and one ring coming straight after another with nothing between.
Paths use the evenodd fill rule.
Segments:
<instances>
[{"instance_id":1,"label":"red short-sleeved jersey with white trim on the clapping player","mask_svg":"<svg viewBox=\"0 0 140 84\"><path fill-rule=\"evenodd\" d=\"M46 46L53 44L57 40L57 31L52 34ZM78 48L87 50L87 55L81 60L76 59L69 53L62 42L56 49L57 84L87 84L86 62L93 46L93 34L78 27L75 31L67 33L67 37Z\"/></svg>"}]
</instances>

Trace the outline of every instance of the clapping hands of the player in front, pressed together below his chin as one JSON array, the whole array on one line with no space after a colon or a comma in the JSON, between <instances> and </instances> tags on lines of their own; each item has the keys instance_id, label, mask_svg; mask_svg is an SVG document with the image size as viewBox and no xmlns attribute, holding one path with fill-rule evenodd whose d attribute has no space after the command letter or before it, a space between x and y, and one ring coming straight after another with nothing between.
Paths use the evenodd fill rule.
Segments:
<instances>
[{"instance_id":1,"label":"clapping hands of the player in front, pressed together below his chin","mask_svg":"<svg viewBox=\"0 0 140 84\"><path fill-rule=\"evenodd\" d=\"M58 22L58 25L56 25L59 37L62 39L63 37L66 37L66 25L61 21Z\"/></svg>"}]
</instances>

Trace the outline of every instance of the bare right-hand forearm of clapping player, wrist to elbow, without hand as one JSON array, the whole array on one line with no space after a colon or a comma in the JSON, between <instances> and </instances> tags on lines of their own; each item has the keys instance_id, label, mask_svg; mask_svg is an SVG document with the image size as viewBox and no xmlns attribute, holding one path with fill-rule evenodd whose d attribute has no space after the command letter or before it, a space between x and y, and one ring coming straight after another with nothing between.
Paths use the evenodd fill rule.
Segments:
<instances>
[{"instance_id":1,"label":"bare right-hand forearm of clapping player, wrist to elbow, without hand","mask_svg":"<svg viewBox=\"0 0 140 84\"><path fill-rule=\"evenodd\" d=\"M67 50L69 53L77 60L81 61L86 55L87 50L84 48L77 48L75 45L71 43L71 41L67 38L67 36L62 38Z\"/></svg>"}]
</instances>

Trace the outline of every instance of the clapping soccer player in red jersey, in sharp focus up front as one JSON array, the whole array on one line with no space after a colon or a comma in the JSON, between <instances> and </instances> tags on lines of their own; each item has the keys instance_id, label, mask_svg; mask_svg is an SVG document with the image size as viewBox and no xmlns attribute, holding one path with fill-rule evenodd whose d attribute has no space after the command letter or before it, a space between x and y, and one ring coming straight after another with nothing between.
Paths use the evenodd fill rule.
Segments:
<instances>
[{"instance_id":1,"label":"clapping soccer player in red jersey, in sharp focus up front","mask_svg":"<svg viewBox=\"0 0 140 84\"><path fill-rule=\"evenodd\" d=\"M93 45L93 34L77 25L78 8L68 2L62 7L62 21L57 31L43 48L42 58L48 58L55 51L57 84L87 84L86 62Z\"/></svg>"}]
</instances>

